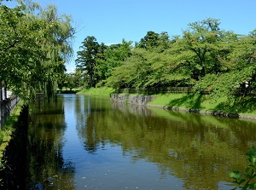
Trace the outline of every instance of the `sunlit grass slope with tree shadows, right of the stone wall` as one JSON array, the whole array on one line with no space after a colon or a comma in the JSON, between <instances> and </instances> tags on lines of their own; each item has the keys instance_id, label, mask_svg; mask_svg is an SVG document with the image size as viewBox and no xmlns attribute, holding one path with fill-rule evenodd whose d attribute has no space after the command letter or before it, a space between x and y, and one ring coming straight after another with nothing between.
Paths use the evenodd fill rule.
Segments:
<instances>
[{"instance_id":1,"label":"sunlit grass slope with tree shadows, right of the stone wall","mask_svg":"<svg viewBox=\"0 0 256 190\"><path fill-rule=\"evenodd\" d=\"M255 102L253 97L236 97L231 102L226 97L213 100L211 95L162 94L156 95L147 106L228 118L256 119Z\"/></svg>"}]
</instances>

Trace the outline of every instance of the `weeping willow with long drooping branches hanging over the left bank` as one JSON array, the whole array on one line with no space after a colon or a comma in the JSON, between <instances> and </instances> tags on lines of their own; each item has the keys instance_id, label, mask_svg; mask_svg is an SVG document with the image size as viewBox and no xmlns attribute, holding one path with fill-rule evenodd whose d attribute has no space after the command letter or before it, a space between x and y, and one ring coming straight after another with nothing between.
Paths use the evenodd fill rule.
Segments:
<instances>
[{"instance_id":1,"label":"weeping willow with long drooping branches hanging over the left bank","mask_svg":"<svg viewBox=\"0 0 256 190\"><path fill-rule=\"evenodd\" d=\"M49 25L41 43L47 51L47 60L42 60L46 72L44 91L50 94L55 91L66 71L65 62L73 55L72 39L75 31L70 16L58 15L54 5L49 5L40 14L41 19Z\"/></svg>"}]
</instances>

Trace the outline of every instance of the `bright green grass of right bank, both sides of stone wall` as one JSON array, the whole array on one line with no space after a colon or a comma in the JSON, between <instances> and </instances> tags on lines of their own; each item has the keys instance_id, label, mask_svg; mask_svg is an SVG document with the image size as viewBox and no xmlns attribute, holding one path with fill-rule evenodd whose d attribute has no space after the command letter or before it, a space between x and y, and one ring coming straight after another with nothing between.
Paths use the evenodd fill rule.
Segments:
<instances>
[{"instance_id":1,"label":"bright green grass of right bank, both sides of stone wall","mask_svg":"<svg viewBox=\"0 0 256 190\"><path fill-rule=\"evenodd\" d=\"M80 95L111 95L114 92L109 88L92 88L83 89ZM229 101L227 97L212 99L211 95L199 94L159 94L154 95L154 101L148 103L152 107L180 107L201 111L227 112L246 114L256 117L256 97L238 96L233 101Z\"/></svg>"}]
</instances>

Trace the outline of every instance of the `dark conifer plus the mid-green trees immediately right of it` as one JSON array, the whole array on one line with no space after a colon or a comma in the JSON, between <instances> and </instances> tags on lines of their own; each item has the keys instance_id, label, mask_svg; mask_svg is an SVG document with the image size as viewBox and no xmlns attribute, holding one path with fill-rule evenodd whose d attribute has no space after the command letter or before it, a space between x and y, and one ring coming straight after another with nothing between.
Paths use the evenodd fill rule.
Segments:
<instances>
[{"instance_id":1,"label":"dark conifer plus the mid-green trees immediately right of it","mask_svg":"<svg viewBox=\"0 0 256 190\"><path fill-rule=\"evenodd\" d=\"M76 59L77 70L83 73L90 88L110 77L113 69L127 60L131 55L131 42L123 40L107 46L97 43L96 37L86 37L80 49Z\"/></svg>"}]
</instances>

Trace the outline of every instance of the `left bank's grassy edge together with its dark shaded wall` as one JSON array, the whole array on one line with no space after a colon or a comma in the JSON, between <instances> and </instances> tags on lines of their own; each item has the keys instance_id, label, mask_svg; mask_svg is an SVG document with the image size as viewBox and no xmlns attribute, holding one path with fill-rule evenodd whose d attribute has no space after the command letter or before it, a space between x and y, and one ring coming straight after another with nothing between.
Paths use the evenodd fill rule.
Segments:
<instances>
[{"instance_id":1,"label":"left bank's grassy edge together with its dark shaded wall","mask_svg":"<svg viewBox=\"0 0 256 190\"><path fill-rule=\"evenodd\" d=\"M25 188L28 109L20 102L0 130L0 187Z\"/></svg>"}]
</instances>

